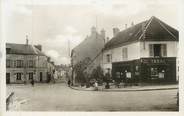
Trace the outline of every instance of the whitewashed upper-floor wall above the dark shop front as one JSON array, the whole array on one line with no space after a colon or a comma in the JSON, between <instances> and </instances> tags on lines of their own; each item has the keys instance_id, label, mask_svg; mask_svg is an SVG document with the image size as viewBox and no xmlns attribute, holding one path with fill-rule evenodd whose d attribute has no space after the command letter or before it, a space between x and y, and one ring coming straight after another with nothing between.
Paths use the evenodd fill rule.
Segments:
<instances>
[{"instance_id":1,"label":"whitewashed upper-floor wall above the dark shop front","mask_svg":"<svg viewBox=\"0 0 184 116\"><path fill-rule=\"evenodd\" d=\"M144 49L145 44L145 49ZM167 44L167 57L177 57L178 52L178 42L171 41L159 41L159 42L135 42L129 45L113 48L110 50L106 50L103 53L103 64L102 67L104 71L107 68L112 69L112 62L121 62L121 61L129 61L135 60L149 56L149 44ZM122 58L122 49L123 47L128 48L128 58L123 60ZM112 61L110 63L106 62L106 55L112 55Z\"/></svg>"}]
</instances>

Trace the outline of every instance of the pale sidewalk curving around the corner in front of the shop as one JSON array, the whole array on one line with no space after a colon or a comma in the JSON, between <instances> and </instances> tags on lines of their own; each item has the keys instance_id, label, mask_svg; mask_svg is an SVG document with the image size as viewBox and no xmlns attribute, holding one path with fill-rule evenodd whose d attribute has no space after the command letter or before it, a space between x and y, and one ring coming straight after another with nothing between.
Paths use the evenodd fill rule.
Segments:
<instances>
[{"instance_id":1,"label":"pale sidewalk curving around the corner in front of the shop","mask_svg":"<svg viewBox=\"0 0 184 116\"><path fill-rule=\"evenodd\" d=\"M85 87L74 87L71 86L72 89L81 90L81 91L95 91L94 87L85 88ZM178 84L170 84L170 85L146 85L146 86L128 86L115 88L111 86L110 89L105 89L104 86L99 86L98 91L104 92L126 92L126 91L152 91L152 90L170 90L170 89L178 89Z\"/></svg>"}]
</instances>

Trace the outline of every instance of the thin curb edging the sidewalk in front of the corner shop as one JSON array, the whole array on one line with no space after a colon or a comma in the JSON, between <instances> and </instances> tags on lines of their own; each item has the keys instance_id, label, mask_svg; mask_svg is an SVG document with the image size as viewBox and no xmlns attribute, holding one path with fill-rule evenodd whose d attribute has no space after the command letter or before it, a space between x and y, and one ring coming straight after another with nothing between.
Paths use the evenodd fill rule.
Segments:
<instances>
[{"instance_id":1,"label":"thin curb edging the sidewalk in front of the corner shop","mask_svg":"<svg viewBox=\"0 0 184 116\"><path fill-rule=\"evenodd\" d=\"M78 91L95 91L95 90L87 90L81 88L71 87L71 89L78 90ZM155 91L155 90L173 90L178 89L178 87L171 87L171 88L153 88L153 89L125 89L125 90L110 90L110 89L103 89L96 92L133 92L133 91Z\"/></svg>"}]
</instances>

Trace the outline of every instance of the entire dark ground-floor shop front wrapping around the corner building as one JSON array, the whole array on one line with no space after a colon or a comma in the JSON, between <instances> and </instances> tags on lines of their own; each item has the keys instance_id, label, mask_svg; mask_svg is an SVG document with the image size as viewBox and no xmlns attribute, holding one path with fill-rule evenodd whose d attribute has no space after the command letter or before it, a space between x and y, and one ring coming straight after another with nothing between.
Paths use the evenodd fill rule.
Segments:
<instances>
[{"instance_id":1,"label":"entire dark ground-floor shop front wrapping around the corner building","mask_svg":"<svg viewBox=\"0 0 184 116\"><path fill-rule=\"evenodd\" d=\"M112 63L112 77L125 83L176 82L176 58L141 58Z\"/></svg>"}]
</instances>

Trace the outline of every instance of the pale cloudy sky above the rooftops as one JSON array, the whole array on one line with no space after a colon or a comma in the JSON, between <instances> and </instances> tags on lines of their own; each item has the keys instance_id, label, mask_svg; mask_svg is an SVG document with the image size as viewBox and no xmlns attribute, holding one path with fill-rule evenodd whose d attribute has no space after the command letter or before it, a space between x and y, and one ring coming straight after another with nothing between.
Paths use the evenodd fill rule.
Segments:
<instances>
[{"instance_id":1,"label":"pale cloudy sky above the rooftops","mask_svg":"<svg viewBox=\"0 0 184 116\"><path fill-rule=\"evenodd\" d=\"M9 43L41 44L55 64L69 64L70 50L90 35L92 26L120 30L156 16L178 29L177 0L6 0L5 38Z\"/></svg>"}]
</instances>

